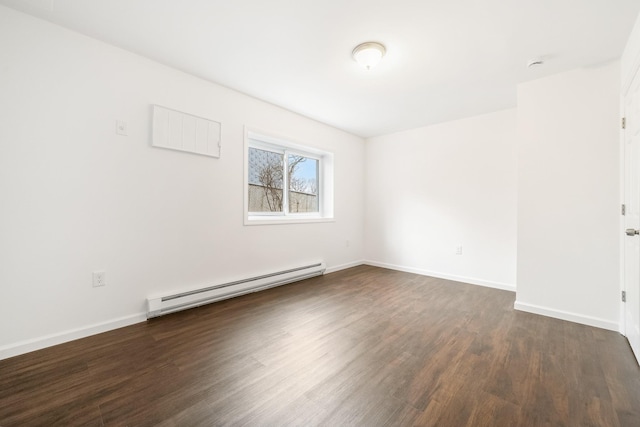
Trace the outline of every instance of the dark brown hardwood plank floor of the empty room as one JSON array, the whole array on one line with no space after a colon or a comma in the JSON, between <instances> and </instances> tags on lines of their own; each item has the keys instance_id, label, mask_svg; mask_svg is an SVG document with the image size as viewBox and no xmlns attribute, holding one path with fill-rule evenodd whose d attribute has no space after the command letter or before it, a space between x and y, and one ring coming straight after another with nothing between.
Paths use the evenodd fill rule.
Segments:
<instances>
[{"instance_id":1,"label":"dark brown hardwood plank floor of the empty room","mask_svg":"<svg viewBox=\"0 0 640 427\"><path fill-rule=\"evenodd\" d=\"M640 426L626 339L514 297L344 270L0 361L0 426Z\"/></svg>"}]
</instances>

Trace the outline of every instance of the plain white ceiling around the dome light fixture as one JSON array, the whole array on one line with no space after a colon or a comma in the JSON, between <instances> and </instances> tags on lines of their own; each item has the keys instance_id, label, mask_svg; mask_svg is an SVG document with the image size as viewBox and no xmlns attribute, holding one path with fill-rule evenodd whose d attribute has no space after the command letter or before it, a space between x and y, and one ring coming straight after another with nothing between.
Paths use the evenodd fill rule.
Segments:
<instances>
[{"instance_id":1,"label":"plain white ceiling around the dome light fixture","mask_svg":"<svg viewBox=\"0 0 640 427\"><path fill-rule=\"evenodd\" d=\"M516 105L516 85L619 58L639 0L0 0L356 135ZM371 71L351 58L387 47ZM545 65L527 69L543 57Z\"/></svg>"}]
</instances>

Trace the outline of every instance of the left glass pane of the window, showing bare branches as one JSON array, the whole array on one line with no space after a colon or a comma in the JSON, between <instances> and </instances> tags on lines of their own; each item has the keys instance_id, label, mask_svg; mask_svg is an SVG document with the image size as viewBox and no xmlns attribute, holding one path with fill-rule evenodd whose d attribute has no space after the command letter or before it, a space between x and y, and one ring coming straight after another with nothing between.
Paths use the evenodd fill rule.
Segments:
<instances>
[{"instance_id":1,"label":"left glass pane of the window, showing bare branches","mask_svg":"<svg viewBox=\"0 0 640 427\"><path fill-rule=\"evenodd\" d=\"M282 212L284 155L249 147L249 212Z\"/></svg>"}]
</instances>

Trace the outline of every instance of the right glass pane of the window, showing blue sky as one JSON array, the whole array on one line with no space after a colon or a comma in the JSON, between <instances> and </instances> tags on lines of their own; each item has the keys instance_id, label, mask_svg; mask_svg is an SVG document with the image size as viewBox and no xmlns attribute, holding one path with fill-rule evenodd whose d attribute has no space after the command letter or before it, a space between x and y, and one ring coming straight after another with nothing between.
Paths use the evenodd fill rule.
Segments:
<instances>
[{"instance_id":1,"label":"right glass pane of the window, showing blue sky","mask_svg":"<svg viewBox=\"0 0 640 427\"><path fill-rule=\"evenodd\" d=\"M289 212L318 212L318 160L289 154Z\"/></svg>"}]
</instances>

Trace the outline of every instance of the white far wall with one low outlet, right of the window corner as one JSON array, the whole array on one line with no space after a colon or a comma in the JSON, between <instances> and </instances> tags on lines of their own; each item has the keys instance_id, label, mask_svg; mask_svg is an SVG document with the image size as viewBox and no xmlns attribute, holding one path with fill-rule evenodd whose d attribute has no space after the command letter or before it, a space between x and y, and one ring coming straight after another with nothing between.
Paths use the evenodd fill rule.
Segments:
<instances>
[{"instance_id":1,"label":"white far wall with one low outlet, right of the window corner","mask_svg":"<svg viewBox=\"0 0 640 427\"><path fill-rule=\"evenodd\" d=\"M366 159L368 263L515 290L515 109L371 138Z\"/></svg>"}]
</instances>

